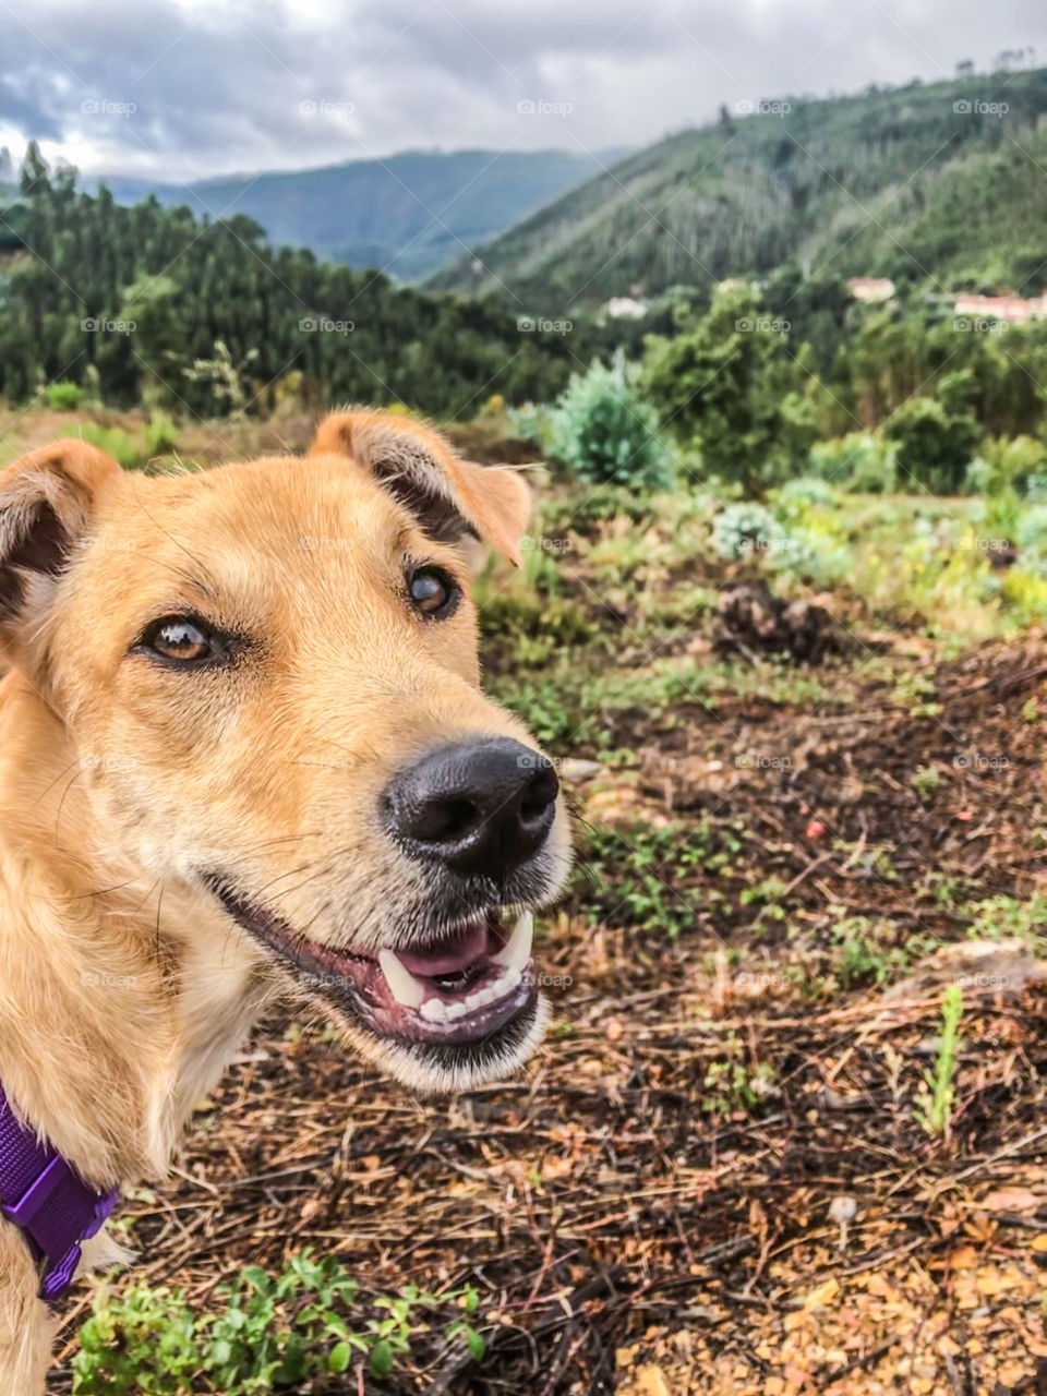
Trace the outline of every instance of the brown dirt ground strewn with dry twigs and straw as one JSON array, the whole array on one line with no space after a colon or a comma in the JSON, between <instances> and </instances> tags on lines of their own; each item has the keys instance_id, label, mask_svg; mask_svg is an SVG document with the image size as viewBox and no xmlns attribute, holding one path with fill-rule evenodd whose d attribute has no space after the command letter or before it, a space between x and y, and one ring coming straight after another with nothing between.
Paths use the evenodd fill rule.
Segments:
<instances>
[{"instance_id":1,"label":"brown dirt ground strewn with dry twigs and straw","mask_svg":"<svg viewBox=\"0 0 1047 1396\"><path fill-rule=\"evenodd\" d=\"M1047 635L846 618L846 653L740 660L553 744L581 859L539 931L553 1026L522 1079L417 1101L325 1023L271 1018L170 1178L126 1199L114 1289L202 1308L303 1247L362 1302L476 1286L482 1358L434 1325L387 1381L322 1390L1047 1396ZM659 641L698 667L715 645L708 614Z\"/></svg>"}]
</instances>

